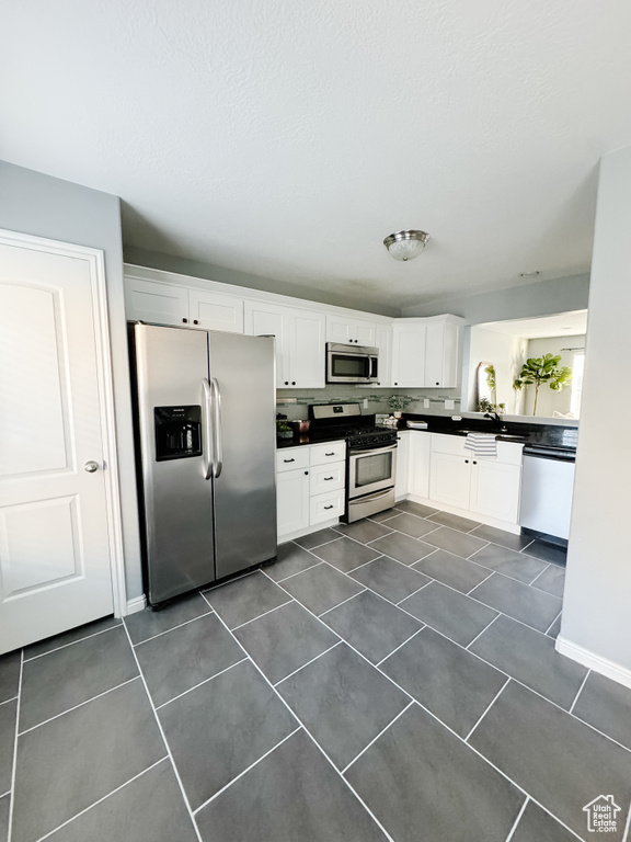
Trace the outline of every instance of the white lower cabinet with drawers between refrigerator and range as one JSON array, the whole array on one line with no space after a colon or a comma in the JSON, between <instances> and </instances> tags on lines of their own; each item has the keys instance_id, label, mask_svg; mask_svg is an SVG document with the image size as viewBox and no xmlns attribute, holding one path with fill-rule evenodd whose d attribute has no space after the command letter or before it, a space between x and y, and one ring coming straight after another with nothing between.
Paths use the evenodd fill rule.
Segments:
<instances>
[{"instance_id":1,"label":"white lower cabinet with drawers between refrigerator and range","mask_svg":"<svg viewBox=\"0 0 631 842\"><path fill-rule=\"evenodd\" d=\"M346 444L287 447L276 454L278 539L306 534L311 526L344 514Z\"/></svg>"}]
</instances>

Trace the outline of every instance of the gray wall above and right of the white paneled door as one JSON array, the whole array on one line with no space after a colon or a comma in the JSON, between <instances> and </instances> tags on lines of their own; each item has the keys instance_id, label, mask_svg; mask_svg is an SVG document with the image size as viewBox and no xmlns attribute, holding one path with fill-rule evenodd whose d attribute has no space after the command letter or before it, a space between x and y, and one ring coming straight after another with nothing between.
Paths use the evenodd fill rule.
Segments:
<instances>
[{"instance_id":1,"label":"gray wall above and right of the white paneled door","mask_svg":"<svg viewBox=\"0 0 631 842\"><path fill-rule=\"evenodd\" d=\"M0 228L102 249L112 341L127 599L142 594L117 196L0 161Z\"/></svg>"}]
</instances>

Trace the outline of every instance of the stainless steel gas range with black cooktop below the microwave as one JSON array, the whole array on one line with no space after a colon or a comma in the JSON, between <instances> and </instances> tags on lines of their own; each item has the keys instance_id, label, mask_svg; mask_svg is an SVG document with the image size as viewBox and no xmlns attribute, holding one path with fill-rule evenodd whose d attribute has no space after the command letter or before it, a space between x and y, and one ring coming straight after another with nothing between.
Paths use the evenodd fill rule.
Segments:
<instances>
[{"instance_id":1,"label":"stainless steel gas range with black cooktop below the microwave","mask_svg":"<svg viewBox=\"0 0 631 842\"><path fill-rule=\"evenodd\" d=\"M394 505L397 431L375 425L359 403L309 407L310 439L346 440L346 508L342 520L359 521Z\"/></svg>"}]
</instances>

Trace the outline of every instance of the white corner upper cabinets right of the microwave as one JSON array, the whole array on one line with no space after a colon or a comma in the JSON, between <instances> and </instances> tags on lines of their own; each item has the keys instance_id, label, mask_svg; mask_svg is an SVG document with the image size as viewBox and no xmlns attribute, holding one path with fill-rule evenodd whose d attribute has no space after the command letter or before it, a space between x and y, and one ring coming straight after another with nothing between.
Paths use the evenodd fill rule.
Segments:
<instances>
[{"instance_id":1,"label":"white corner upper cabinets right of the microwave","mask_svg":"<svg viewBox=\"0 0 631 842\"><path fill-rule=\"evenodd\" d=\"M392 386L455 388L463 319L398 319L392 326Z\"/></svg>"}]
</instances>

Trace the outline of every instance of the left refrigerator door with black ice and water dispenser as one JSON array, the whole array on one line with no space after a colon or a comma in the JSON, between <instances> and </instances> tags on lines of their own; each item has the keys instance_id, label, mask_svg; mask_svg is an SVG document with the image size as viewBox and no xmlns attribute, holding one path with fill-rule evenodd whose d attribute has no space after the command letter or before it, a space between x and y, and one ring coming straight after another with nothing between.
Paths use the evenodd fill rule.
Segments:
<instances>
[{"instance_id":1,"label":"left refrigerator door with black ice and water dispenser","mask_svg":"<svg viewBox=\"0 0 631 842\"><path fill-rule=\"evenodd\" d=\"M215 579L205 331L136 325L148 598Z\"/></svg>"}]
</instances>

